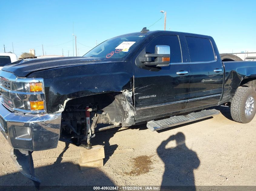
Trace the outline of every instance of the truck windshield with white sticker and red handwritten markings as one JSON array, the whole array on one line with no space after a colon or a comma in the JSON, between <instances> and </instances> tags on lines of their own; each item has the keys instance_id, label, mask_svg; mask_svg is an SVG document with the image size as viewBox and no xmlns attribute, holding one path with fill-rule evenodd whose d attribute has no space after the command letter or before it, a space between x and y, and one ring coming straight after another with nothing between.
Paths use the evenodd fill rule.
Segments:
<instances>
[{"instance_id":1,"label":"truck windshield with white sticker and red handwritten markings","mask_svg":"<svg viewBox=\"0 0 256 191\"><path fill-rule=\"evenodd\" d=\"M121 59L127 56L144 38L145 34L111 38L91 49L84 57Z\"/></svg>"}]
</instances>

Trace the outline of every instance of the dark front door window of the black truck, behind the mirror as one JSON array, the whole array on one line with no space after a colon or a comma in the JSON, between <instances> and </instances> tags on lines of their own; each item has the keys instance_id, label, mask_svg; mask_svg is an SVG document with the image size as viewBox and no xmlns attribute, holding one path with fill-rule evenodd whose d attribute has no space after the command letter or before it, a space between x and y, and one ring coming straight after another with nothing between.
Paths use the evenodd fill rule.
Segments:
<instances>
[{"instance_id":1,"label":"dark front door window of the black truck, behind the mirror","mask_svg":"<svg viewBox=\"0 0 256 191\"><path fill-rule=\"evenodd\" d=\"M156 45L170 46L171 63L182 62L181 46L177 35L161 35L159 37L155 37L146 47L146 53L155 54Z\"/></svg>"}]
</instances>

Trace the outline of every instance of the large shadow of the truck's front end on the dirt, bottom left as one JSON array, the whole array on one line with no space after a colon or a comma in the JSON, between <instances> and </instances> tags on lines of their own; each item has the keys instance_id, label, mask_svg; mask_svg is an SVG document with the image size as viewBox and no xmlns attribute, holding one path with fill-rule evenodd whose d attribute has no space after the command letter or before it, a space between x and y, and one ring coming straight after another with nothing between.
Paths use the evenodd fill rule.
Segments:
<instances>
[{"instance_id":1,"label":"large shadow of the truck's front end on the dirt, bottom left","mask_svg":"<svg viewBox=\"0 0 256 191\"><path fill-rule=\"evenodd\" d=\"M68 162L35 168L35 174L41 180L40 191L94 190L93 186L115 185L100 169L80 171L78 165ZM0 177L0 190L36 191L32 180L19 172Z\"/></svg>"}]
</instances>

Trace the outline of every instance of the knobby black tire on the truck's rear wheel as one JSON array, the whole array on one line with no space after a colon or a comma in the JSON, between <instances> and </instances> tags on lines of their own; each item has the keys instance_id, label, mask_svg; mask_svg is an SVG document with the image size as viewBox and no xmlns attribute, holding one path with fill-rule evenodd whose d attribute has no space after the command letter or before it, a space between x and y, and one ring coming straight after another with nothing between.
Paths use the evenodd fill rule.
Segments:
<instances>
[{"instance_id":1,"label":"knobby black tire on the truck's rear wheel","mask_svg":"<svg viewBox=\"0 0 256 191\"><path fill-rule=\"evenodd\" d=\"M245 113L246 101L251 97L254 99L253 110L251 114L247 115ZM254 118L256 113L255 100L255 89L248 87L239 87L231 100L230 112L232 119L239 123L249 123Z\"/></svg>"}]
</instances>

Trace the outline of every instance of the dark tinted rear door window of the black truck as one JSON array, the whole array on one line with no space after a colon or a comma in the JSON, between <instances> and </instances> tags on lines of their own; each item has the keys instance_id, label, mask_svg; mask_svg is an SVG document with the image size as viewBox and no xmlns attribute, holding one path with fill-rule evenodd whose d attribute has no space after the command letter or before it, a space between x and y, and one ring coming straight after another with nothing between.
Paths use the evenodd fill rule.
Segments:
<instances>
[{"instance_id":1,"label":"dark tinted rear door window of the black truck","mask_svg":"<svg viewBox=\"0 0 256 191\"><path fill-rule=\"evenodd\" d=\"M214 61L214 50L207 38L185 37L188 45L190 62Z\"/></svg>"}]
</instances>

